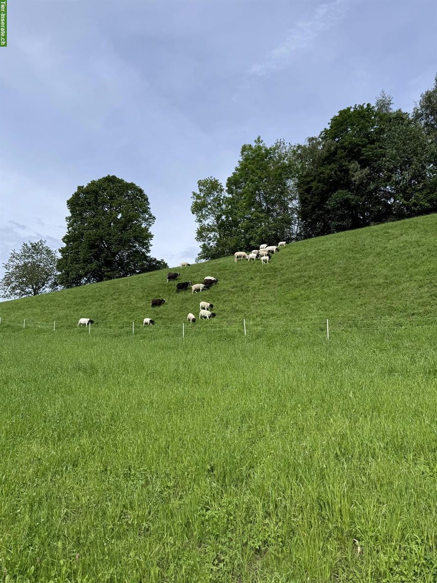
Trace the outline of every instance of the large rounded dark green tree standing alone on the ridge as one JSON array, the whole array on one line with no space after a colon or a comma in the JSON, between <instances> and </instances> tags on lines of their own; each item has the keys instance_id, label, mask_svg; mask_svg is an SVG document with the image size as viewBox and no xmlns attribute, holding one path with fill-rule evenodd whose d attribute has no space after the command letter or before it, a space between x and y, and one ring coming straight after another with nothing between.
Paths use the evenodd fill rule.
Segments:
<instances>
[{"instance_id":1,"label":"large rounded dark green tree standing alone on the ridge","mask_svg":"<svg viewBox=\"0 0 437 583\"><path fill-rule=\"evenodd\" d=\"M67 232L59 252L59 282L65 287L122 278L165 267L151 258L155 217L142 188L117 176L78 186L67 201Z\"/></svg>"}]
</instances>

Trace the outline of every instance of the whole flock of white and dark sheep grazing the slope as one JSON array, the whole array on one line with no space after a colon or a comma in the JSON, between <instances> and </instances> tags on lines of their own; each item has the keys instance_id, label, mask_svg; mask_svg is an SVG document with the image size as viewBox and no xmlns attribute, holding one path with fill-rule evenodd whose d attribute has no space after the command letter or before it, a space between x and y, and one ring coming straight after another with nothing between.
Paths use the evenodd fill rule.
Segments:
<instances>
[{"instance_id":1,"label":"whole flock of white and dark sheep grazing the slope","mask_svg":"<svg viewBox=\"0 0 437 583\"><path fill-rule=\"evenodd\" d=\"M251 259L253 259L253 261L255 261L255 259L260 259L262 264L266 264L269 262L269 259L272 256L272 254L279 251L279 248L284 247L285 245L286 245L285 241L280 241L280 243L277 246L270 245L270 247L268 247L266 244L260 245L259 250L255 249L249 254L247 254L245 251L237 251L234 254L235 263L237 263L238 259L247 259L248 261L250 261ZM186 261L183 261L181 263L181 267L188 267L188 266L189 266L189 263L187 263ZM171 281L175 281L176 279L179 279L180 277L181 277L181 274L178 272L169 272L169 273L167 273L167 283L171 282ZM198 293L199 291L209 290L210 287L213 286L215 283L218 283L218 279L213 278L212 276L207 276L206 278L203 279L203 283L195 283L194 285L192 285L191 281L179 282L176 285L176 293L179 293L179 291L186 291L190 286L191 286L191 294ZM153 300L151 300L151 307L152 308L158 307L160 305L163 305L164 303L165 303L164 298L154 298ZM210 318L216 317L215 312L211 311L212 308L214 307L213 304L210 304L207 301L201 301L199 304L199 307L200 307L200 311L199 311L199 318L200 319L210 319ZM192 314L191 312L188 314L186 319L191 324L193 324L196 321L195 315ZM145 318L143 320L143 326L152 326L154 323L155 323L155 321L152 318ZM77 326L83 326L83 325L87 326L87 325L91 325L91 324L93 324L93 320L91 320L90 318L80 318Z\"/></svg>"}]
</instances>

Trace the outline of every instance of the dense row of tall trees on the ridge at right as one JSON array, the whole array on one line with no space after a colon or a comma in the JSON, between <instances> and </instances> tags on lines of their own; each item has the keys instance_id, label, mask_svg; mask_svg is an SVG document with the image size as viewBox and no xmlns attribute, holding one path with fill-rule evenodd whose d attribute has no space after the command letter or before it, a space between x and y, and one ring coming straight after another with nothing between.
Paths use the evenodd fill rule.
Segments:
<instances>
[{"instance_id":1,"label":"dense row of tall trees on the ridge at right","mask_svg":"<svg viewBox=\"0 0 437 583\"><path fill-rule=\"evenodd\" d=\"M198 259L437 212L437 76L412 113L392 104L347 107L304 144L258 137L225 186L199 180Z\"/></svg>"}]
</instances>

